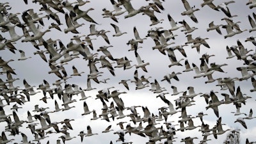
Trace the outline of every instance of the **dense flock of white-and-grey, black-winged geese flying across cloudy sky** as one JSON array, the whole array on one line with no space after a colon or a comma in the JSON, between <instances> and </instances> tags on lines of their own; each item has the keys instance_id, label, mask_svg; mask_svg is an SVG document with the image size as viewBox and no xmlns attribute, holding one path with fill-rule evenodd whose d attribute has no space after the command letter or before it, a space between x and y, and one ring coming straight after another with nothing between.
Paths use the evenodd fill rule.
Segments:
<instances>
[{"instance_id":1,"label":"dense flock of white-and-grey, black-winged geese flying across cloudy sky","mask_svg":"<svg viewBox=\"0 0 256 144\"><path fill-rule=\"evenodd\" d=\"M225 124L221 120L225 116L220 115L219 108L227 104L236 107L236 112L232 113L239 117L234 120L234 123L238 123L242 129L248 129L246 122L255 120L253 108L248 113L240 112L240 109L246 105L248 100L255 102L255 98L250 97L251 93L253 95L253 92L256 91L256 81L254 78L256 73L256 55L253 49L256 46L255 36L244 38L243 41L237 40L237 43L234 45L221 47L227 50L227 60L233 59L234 61L239 61L237 63L243 63L243 66L236 67L236 70L241 72L241 77L213 78L213 75L216 73L225 74L225 66L228 66L228 64L212 62L214 54L202 54L200 52L202 51L201 49L212 49L212 47L210 46L211 44L207 43L209 38L193 37L193 31L198 29L193 25L200 23L198 22L200 20L196 17L196 11L200 10L200 8L196 7L199 6L190 6L187 0L179 1L179 3L184 4L184 12L181 13L181 17L184 17L184 20L175 22L170 14L166 15L166 19L157 18L157 15L166 10L165 1L146 0L145 5L140 8L134 8L133 3L135 1L110 0L108 3L112 4L113 9L107 10L107 8L103 8L100 15L104 19L112 21L110 26L113 29L97 30L97 27L100 28L104 22L98 22L95 17L90 15L90 11L94 10L86 6L90 1L34 0L31 2L24 0L24 4L28 3L39 5L40 10L29 9L22 13L10 13L12 6L9 3L0 3L0 50L12 54L20 54L18 60L13 60L12 58L6 60L3 58L4 56L0 58L0 123L1 127L4 128L1 132L0 144L12 143L13 141L14 143L22 144L41 143L43 140L47 140L47 143L55 143L49 139L56 135L58 136L56 140L58 144L71 143L72 140L78 138L81 138L81 143L83 143L86 141L84 140L85 138L100 135L100 132L96 133L96 129L93 129L90 125L87 125L84 131L77 132L73 128L74 125L72 127L72 123L76 121L77 115L69 115L65 120L58 122L52 120L54 119L52 117L57 113L66 115L66 111L81 109L77 106L80 100L83 101L83 113L79 114L81 118L95 121L98 125L102 121L108 122L108 127L102 133L110 133L112 131L116 135L116 140L106 142L99 140L101 143L132 143L132 141L127 141L127 135L145 137L147 138L147 143L184 142L192 144L195 143L195 139L199 140L198 143L210 143L217 139L219 135L227 134L228 132L228 138L224 143L231 143L230 141L239 131L222 127ZM223 24L216 25L214 21L209 23L209 28L205 29L207 33L214 31L214 33L221 35L224 39L240 35L241 33L255 33L255 13L248 13L248 22L243 22L250 25L250 29L241 29L239 23L242 22L233 20L237 15L234 15L229 8L234 3L236 1L227 1L221 4L215 4L213 0L202 1L202 9L209 6L209 10L225 15L221 19ZM256 7L255 0L250 0L244 4L248 5L250 9ZM111 52L114 50L110 49L118 48L115 45L111 45L111 40L130 33L129 31L122 31L122 26L118 26L118 20L121 17L124 17L122 19L124 21L129 20L132 19L131 17L137 17L141 14L143 17L150 19L149 26L151 29L148 29L147 35L142 37L139 33L140 29L134 26L134 38L131 38L125 44L131 49L122 51L122 53L129 52L129 54L132 54L131 56L134 56L136 61L132 61L129 56L116 58ZM185 17L189 19L185 20ZM80 20L83 23L79 23ZM159 27L163 22L170 22L169 28ZM90 33L84 35L83 32L79 32L80 28L90 29ZM22 31L22 35L17 31ZM72 35L73 37L65 42L61 41L61 39L45 38L45 35L54 33L54 31L60 31L63 36ZM177 31L181 31L186 35L184 37L186 42L173 46L176 42L175 38L179 37L175 34ZM227 33L224 34L223 31ZM103 40L101 44L104 46L95 47L97 40ZM154 52L160 52L161 56L165 56L166 59L170 60L168 68L172 72L163 76L163 79L145 76L145 74L148 74L150 63L143 60L145 56L143 51L147 51L145 50L147 48L141 45L145 44L146 40L155 44L152 45ZM55 82L49 83L43 79L42 84L34 86L29 84L29 81L26 79L19 77L19 72L17 72L15 67L12 67L12 61L33 59L26 56L26 51L19 49L19 44L21 43L29 43L31 47L27 47L27 49L33 51L35 56L40 56L39 58L42 58L42 61L49 65L51 70L48 74L56 78ZM244 43L250 43L251 47L246 48ZM189 58L186 53L189 46L191 49L196 48L197 58ZM109 47L113 48L109 49ZM178 55L182 56L182 58L178 59ZM83 60L83 63L90 69L88 74L79 67L76 67L76 65L72 65L72 74L68 73L67 68L70 68L68 66L77 59ZM189 63L196 60L200 61L200 65L197 66L193 62ZM175 72L174 70L177 67L182 67L182 72ZM129 71L132 74L130 78L120 79L118 82L118 84L124 85L125 91L123 92L115 86L111 86L111 83L108 82L111 79L118 78L115 73L118 68L122 68L124 72ZM193 86L188 86L188 89L185 91L178 91L179 88L173 85L173 83L175 81L179 82L179 76L186 75L189 72L194 73L193 79L204 79L203 77L207 77L207 81L204 81L205 86L215 83L220 91L214 92L214 90L211 90L209 93L196 93ZM109 75L106 75L106 73ZM86 88L69 82L74 77L84 76L87 76ZM20 80L22 80L23 85L15 85ZM249 95L244 93L241 86L237 86L237 83L242 81L252 82ZM173 91L169 92L167 88L162 86L163 83L167 83ZM105 84L106 88L103 88L100 84ZM148 106L127 107L127 103L122 99L122 95L129 97L129 94L134 91L131 88L138 92L141 89L149 90L152 92L152 95L156 95L154 96L156 97L156 102L163 102L164 106L156 110L148 109ZM88 96L86 92L96 92L97 94ZM35 97L40 101L42 100L48 107L42 107L40 103L37 104L35 100L31 100L35 99ZM202 101L205 100L207 106L204 109L207 110L207 113L198 112L198 115L187 113L186 109L193 109L193 106L196 105L196 98ZM97 106L99 109L92 109L92 105L95 103L88 102L89 99L95 99L95 101L100 102L102 105ZM54 102L54 106L51 105L51 102ZM24 118L24 116L21 118L18 109L20 111L26 104L32 104L35 109L26 109L27 118ZM52 108L54 109L49 110ZM217 118L215 125L207 124L204 120L206 115L212 114L212 111L208 109L212 109L214 117ZM200 125L194 124L194 120L199 120ZM113 129L112 125L114 124L118 125L118 129ZM29 130L25 132L24 129ZM195 130L200 132L202 138L191 136L186 136L185 138L176 137L177 132L186 133ZM74 133L76 135L72 135ZM31 136L34 136L34 139L31 139ZM17 141L18 137L22 138L22 141ZM249 141L248 138L245 142L246 144L256 143L256 141Z\"/></svg>"}]
</instances>

